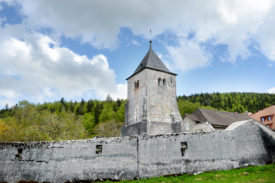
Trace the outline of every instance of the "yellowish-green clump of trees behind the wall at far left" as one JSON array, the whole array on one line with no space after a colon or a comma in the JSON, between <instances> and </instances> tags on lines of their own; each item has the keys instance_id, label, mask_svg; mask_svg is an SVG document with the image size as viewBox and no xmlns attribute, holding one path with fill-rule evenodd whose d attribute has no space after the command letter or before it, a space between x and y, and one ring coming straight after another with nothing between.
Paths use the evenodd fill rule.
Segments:
<instances>
[{"instance_id":1,"label":"yellowish-green clump of trees behind the wall at far left","mask_svg":"<svg viewBox=\"0 0 275 183\"><path fill-rule=\"evenodd\" d=\"M74 113L40 111L37 106L26 101L19 103L14 109L13 116L5 118L4 126L5 130L1 130L1 142L69 140L90 137L83 127L82 119L76 117ZM3 129L2 127L1 122L0 128Z\"/></svg>"}]
</instances>

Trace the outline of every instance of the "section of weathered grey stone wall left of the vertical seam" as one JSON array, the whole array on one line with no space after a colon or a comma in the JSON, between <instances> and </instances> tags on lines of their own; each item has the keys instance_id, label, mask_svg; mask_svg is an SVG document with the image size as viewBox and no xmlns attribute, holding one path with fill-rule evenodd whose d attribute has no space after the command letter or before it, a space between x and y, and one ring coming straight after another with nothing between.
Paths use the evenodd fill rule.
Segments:
<instances>
[{"instance_id":1,"label":"section of weathered grey stone wall left of the vertical seam","mask_svg":"<svg viewBox=\"0 0 275 183\"><path fill-rule=\"evenodd\" d=\"M98 154L97 145L102 145ZM136 170L132 137L0 144L0 182L134 179Z\"/></svg>"}]
</instances>

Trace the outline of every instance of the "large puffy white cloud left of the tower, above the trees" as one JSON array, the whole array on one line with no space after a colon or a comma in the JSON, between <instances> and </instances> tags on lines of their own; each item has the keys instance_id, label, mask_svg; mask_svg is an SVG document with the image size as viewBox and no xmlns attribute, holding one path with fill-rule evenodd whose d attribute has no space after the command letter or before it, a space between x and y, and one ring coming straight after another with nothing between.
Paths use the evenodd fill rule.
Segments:
<instances>
[{"instance_id":1,"label":"large puffy white cloud left of the tower, above the trees","mask_svg":"<svg viewBox=\"0 0 275 183\"><path fill-rule=\"evenodd\" d=\"M82 97L88 91L101 99L107 94L126 97L124 85L116 84L116 75L104 55L78 55L38 33L23 37L0 36L0 96L9 104L20 96L41 102Z\"/></svg>"}]
</instances>

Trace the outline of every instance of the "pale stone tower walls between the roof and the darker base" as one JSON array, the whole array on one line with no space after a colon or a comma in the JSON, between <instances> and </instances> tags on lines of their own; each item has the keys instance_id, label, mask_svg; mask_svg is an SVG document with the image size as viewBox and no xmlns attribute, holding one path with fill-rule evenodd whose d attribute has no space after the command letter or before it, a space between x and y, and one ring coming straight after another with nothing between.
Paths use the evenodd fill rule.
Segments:
<instances>
[{"instance_id":1,"label":"pale stone tower walls between the roof and the darker base","mask_svg":"<svg viewBox=\"0 0 275 183\"><path fill-rule=\"evenodd\" d=\"M166 85L158 86L158 78ZM139 87L134 83L139 81ZM128 80L128 124L142 122L182 121L176 100L176 76L145 69Z\"/></svg>"}]
</instances>

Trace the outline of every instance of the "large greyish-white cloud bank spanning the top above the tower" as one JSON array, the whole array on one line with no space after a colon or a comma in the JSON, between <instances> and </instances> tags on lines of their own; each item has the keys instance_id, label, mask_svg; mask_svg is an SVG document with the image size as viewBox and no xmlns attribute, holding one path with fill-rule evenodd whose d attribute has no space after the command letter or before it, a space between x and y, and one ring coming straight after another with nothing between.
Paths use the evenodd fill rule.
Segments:
<instances>
[{"instance_id":1,"label":"large greyish-white cloud bank spanning the top above the tower","mask_svg":"<svg viewBox=\"0 0 275 183\"><path fill-rule=\"evenodd\" d=\"M211 41L212 45L228 46L223 60L230 62L251 56L248 47L256 42L263 54L275 60L272 0L17 2L22 4L21 13L27 16L24 22L28 26L49 27L56 34L81 38L99 48L116 47L120 28L128 27L135 35L144 37L148 37L149 29L153 30L153 37L169 31L179 41L193 32L198 43Z\"/></svg>"}]
</instances>

